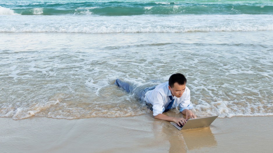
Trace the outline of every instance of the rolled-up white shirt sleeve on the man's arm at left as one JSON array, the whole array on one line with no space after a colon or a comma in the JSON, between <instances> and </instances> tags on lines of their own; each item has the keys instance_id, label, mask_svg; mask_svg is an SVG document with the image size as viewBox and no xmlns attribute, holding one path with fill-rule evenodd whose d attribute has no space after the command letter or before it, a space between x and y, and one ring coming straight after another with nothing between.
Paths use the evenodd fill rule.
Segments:
<instances>
[{"instance_id":1,"label":"rolled-up white shirt sleeve on the man's arm at left","mask_svg":"<svg viewBox=\"0 0 273 153\"><path fill-rule=\"evenodd\" d=\"M153 94L153 116L162 114L164 111L164 96L157 91Z\"/></svg>"}]
</instances>

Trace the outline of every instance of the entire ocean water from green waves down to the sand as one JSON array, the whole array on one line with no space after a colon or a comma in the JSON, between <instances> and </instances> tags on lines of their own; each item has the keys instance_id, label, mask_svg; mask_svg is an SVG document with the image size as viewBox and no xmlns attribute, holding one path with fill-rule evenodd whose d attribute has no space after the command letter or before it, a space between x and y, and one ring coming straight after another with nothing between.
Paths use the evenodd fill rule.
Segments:
<instances>
[{"instance_id":1,"label":"entire ocean water from green waves down to the sand","mask_svg":"<svg viewBox=\"0 0 273 153\"><path fill-rule=\"evenodd\" d=\"M273 1L1 1L0 117L147 114L115 79L177 72L198 117L272 116L272 42Z\"/></svg>"}]
</instances>

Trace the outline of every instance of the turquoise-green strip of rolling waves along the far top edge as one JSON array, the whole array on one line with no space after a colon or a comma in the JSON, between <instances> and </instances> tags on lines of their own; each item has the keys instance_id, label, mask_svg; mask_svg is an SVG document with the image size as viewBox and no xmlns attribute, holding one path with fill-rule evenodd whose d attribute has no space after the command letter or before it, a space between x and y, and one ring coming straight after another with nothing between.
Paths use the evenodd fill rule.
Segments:
<instances>
[{"instance_id":1,"label":"turquoise-green strip of rolling waves along the far top edge","mask_svg":"<svg viewBox=\"0 0 273 153\"><path fill-rule=\"evenodd\" d=\"M92 12L92 15L123 16L123 15L235 15L235 14L273 14L272 2L254 1L190 1L190 2L144 2L144 1L106 1L106 2L35 2L2 3L2 10L8 15L90 15L85 11ZM37 9L42 9L37 13ZM34 11L33 11L34 10ZM12 12L13 11L13 12ZM39 11L40 12L40 11ZM82 13L81 13L82 12ZM2 12L2 14L4 14Z\"/></svg>"}]
</instances>

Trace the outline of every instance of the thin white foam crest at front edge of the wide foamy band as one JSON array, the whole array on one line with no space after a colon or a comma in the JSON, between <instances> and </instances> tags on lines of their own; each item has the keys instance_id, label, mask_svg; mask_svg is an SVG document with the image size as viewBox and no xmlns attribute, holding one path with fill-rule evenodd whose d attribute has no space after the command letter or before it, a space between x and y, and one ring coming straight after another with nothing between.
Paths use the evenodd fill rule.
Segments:
<instances>
[{"instance_id":1,"label":"thin white foam crest at front edge of the wide foamy band","mask_svg":"<svg viewBox=\"0 0 273 153\"><path fill-rule=\"evenodd\" d=\"M81 12L86 14L92 14L92 12ZM92 26L92 25L48 25L48 26L33 26L33 25L21 25L21 26L2 26L0 32L60 32L60 33L181 33L181 32L194 32L194 31L260 31L260 30L273 30L273 25L257 26L257 27L244 27L244 26L230 26L230 27L200 27L200 28L184 28L184 27L164 27L164 26L125 26L116 27L115 25L106 26Z\"/></svg>"}]
</instances>

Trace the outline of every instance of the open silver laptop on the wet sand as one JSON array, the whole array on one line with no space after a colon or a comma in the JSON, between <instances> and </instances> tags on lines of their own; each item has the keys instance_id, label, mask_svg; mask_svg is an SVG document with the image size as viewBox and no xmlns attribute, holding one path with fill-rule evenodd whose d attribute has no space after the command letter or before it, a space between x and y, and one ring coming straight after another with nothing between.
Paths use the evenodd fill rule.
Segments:
<instances>
[{"instance_id":1,"label":"open silver laptop on the wet sand","mask_svg":"<svg viewBox=\"0 0 273 153\"><path fill-rule=\"evenodd\" d=\"M181 126L179 126L175 122L171 122L171 124L174 125L176 128L178 128L179 130L194 129L198 127L208 127L217 117L218 115L201 117L201 118L192 118L187 120L185 125L181 125Z\"/></svg>"}]
</instances>

